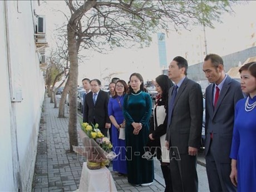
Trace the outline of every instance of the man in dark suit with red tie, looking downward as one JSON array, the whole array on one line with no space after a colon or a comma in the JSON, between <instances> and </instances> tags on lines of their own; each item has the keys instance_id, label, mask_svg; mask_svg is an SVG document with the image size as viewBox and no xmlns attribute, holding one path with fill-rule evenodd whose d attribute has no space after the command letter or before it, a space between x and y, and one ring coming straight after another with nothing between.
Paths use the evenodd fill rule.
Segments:
<instances>
[{"instance_id":1,"label":"man in dark suit with red tie, looking downward","mask_svg":"<svg viewBox=\"0 0 256 192\"><path fill-rule=\"evenodd\" d=\"M211 83L205 91L205 160L210 191L237 191L231 183L231 160L235 104L243 98L240 83L224 72L220 56L209 54L203 71Z\"/></svg>"}]
</instances>

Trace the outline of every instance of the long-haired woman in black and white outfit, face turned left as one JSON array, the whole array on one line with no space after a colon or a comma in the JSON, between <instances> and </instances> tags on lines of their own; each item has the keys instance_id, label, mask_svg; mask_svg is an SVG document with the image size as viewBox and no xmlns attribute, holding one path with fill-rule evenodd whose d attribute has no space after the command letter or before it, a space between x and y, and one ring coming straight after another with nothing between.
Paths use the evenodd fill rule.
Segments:
<instances>
[{"instance_id":1,"label":"long-haired woman in black and white outfit, face turned left","mask_svg":"<svg viewBox=\"0 0 256 192\"><path fill-rule=\"evenodd\" d=\"M149 145L156 147L156 156L161 163L161 170L165 180L165 192L173 191L171 187L171 174L168 165L170 164L169 151L165 147L165 136L168 116L168 91L173 82L166 75L156 77L155 87L158 95L154 106L153 118L151 119Z\"/></svg>"}]
</instances>

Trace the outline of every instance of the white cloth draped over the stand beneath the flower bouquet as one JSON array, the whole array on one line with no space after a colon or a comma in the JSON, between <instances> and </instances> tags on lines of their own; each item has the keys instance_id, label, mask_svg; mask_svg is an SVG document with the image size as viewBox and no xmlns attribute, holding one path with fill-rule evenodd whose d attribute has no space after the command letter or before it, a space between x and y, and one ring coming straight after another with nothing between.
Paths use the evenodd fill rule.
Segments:
<instances>
[{"instance_id":1,"label":"white cloth draped over the stand beneath the flower bouquet","mask_svg":"<svg viewBox=\"0 0 256 192\"><path fill-rule=\"evenodd\" d=\"M114 179L106 167L96 170L87 168L83 163L79 191L117 191Z\"/></svg>"}]
</instances>

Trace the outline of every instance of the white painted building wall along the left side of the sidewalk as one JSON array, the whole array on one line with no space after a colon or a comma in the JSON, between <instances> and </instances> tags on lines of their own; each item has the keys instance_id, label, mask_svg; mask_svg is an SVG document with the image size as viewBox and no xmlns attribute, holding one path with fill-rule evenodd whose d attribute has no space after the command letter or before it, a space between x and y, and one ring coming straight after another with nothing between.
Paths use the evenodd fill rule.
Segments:
<instances>
[{"instance_id":1,"label":"white painted building wall along the left side of the sidewalk","mask_svg":"<svg viewBox=\"0 0 256 192\"><path fill-rule=\"evenodd\" d=\"M0 1L0 191L30 191L45 83L32 1ZM11 98L21 96L20 102Z\"/></svg>"}]
</instances>

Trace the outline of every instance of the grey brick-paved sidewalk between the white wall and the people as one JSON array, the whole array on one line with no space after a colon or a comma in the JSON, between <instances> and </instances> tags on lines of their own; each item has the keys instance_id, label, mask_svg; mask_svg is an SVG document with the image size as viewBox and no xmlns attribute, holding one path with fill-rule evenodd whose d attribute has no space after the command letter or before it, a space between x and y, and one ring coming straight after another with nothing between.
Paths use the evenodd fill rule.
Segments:
<instances>
[{"instance_id":1,"label":"grey brick-paved sidewalk between the white wall and the people","mask_svg":"<svg viewBox=\"0 0 256 192\"><path fill-rule=\"evenodd\" d=\"M32 191L35 192L75 191L79 188L82 165L85 161L81 156L68 152L68 114L65 114L66 118L58 118L58 108L54 109L53 106L50 98L46 97L32 186ZM164 191L164 186L156 180L150 186L135 187L127 182L125 176L118 176L112 171L111 165L109 170L118 191Z\"/></svg>"}]
</instances>

